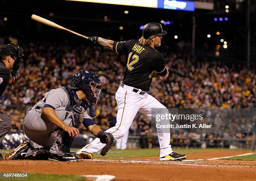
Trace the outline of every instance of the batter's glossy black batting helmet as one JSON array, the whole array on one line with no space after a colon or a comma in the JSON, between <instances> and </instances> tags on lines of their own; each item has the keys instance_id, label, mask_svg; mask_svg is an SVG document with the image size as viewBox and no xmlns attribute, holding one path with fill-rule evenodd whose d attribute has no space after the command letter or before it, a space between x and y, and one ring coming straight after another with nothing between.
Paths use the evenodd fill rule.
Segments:
<instances>
[{"instance_id":1,"label":"batter's glossy black batting helmet","mask_svg":"<svg viewBox=\"0 0 256 181\"><path fill-rule=\"evenodd\" d=\"M142 30L143 38L148 39L152 35L166 35L159 23L147 23Z\"/></svg>"}]
</instances>

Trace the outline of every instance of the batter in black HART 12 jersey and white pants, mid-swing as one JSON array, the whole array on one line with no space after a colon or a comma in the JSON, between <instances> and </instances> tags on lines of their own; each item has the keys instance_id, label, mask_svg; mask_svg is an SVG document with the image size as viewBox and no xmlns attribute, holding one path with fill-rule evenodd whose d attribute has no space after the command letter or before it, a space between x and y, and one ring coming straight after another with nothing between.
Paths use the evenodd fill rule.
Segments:
<instances>
[{"instance_id":1,"label":"batter in black HART 12 jersey and white pants, mid-swing","mask_svg":"<svg viewBox=\"0 0 256 181\"><path fill-rule=\"evenodd\" d=\"M115 139L124 136L128 131L137 112L147 116L151 115L152 108L162 108L162 113L168 113L167 108L162 105L156 98L146 93L151 85L154 71L165 80L169 72L166 68L164 57L155 50L155 47L161 45L162 35L166 35L159 23L148 23L143 28L143 37L139 40L128 40L125 42L115 42L106 40L97 36L92 36L88 40L93 43L114 50L117 54L127 56L127 65L123 83L115 93L115 99L118 104L117 123L114 127L108 129L107 133L112 133ZM169 120L164 120L164 122ZM160 144L160 160L182 160L186 155L181 155L172 151L170 145L170 133L157 129ZM88 158L88 153L100 151L105 146L99 138L96 138L89 145L78 150L77 153Z\"/></svg>"}]
</instances>

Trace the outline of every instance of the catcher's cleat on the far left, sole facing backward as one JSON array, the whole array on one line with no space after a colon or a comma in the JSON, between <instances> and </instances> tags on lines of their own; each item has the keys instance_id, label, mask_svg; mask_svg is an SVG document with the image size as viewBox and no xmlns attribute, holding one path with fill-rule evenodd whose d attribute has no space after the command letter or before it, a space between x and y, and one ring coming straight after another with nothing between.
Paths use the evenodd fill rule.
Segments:
<instances>
[{"instance_id":1,"label":"catcher's cleat on the far left, sole facing backward","mask_svg":"<svg viewBox=\"0 0 256 181\"><path fill-rule=\"evenodd\" d=\"M27 151L30 147L31 147L31 143L29 141L25 141L24 143L21 143L17 148L13 149L12 151L9 151L5 155L5 159L6 160L21 159L24 157L21 154L27 153Z\"/></svg>"}]
</instances>

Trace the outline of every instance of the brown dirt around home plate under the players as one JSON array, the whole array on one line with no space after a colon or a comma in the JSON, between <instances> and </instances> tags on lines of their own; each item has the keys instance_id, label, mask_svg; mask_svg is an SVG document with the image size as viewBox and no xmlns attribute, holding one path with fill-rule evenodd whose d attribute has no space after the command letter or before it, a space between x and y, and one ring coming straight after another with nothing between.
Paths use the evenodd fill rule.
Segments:
<instances>
[{"instance_id":1,"label":"brown dirt around home plate under the players","mask_svg":"<svg viewBox=\"0 0 256 181\"><path fill-rule=\"evenodd\" d=\"M187 155L189 161L159 161L157 157L107 158L78 162L0 161L1 172L114 175L115 181L255 181L256 161L206 160L249 151L210 150ZM204 159L204 160L198 160Z\"/></svg>"}]
</instances>

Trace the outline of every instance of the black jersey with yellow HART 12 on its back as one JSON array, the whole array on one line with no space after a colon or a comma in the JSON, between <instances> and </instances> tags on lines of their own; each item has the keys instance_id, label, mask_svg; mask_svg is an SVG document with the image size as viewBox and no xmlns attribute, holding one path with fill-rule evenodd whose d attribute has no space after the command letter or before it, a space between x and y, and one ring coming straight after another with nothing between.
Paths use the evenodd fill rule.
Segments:
<instances>
[{"instance_id":1,"label":"black jersey with yellow HART 12 on its back","mask_svg":"<svg viewBox=\"0 0 256 181\"><path fill-rule=\"evenodd\" d=\"M123 77L123 84L125 85L148 91L154 70L161 76L167 73L163 55L150 45L141 44L138 40L128 40L114 42L113 50L117 54L127 56L127 65Z\"/></svg>"}]
</instances>

